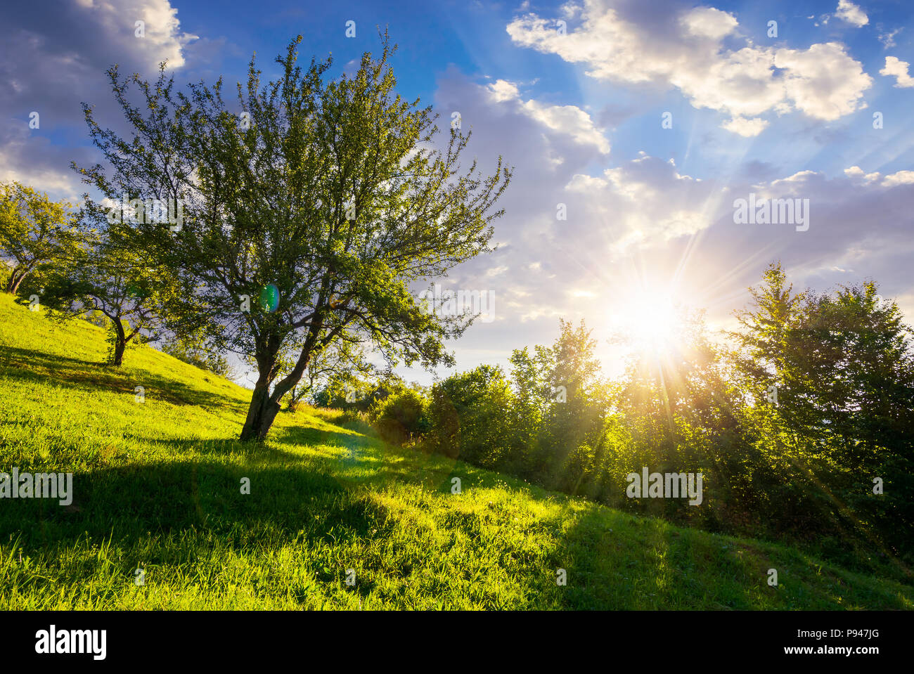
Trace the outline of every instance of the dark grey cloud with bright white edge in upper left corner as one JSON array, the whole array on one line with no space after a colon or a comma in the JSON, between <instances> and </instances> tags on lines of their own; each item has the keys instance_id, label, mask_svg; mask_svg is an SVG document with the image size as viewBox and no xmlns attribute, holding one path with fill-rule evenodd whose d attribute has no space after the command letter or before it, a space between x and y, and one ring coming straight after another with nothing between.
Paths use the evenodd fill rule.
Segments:
<instances>
[{"instance_id":1,"label":"dark grey cloud with bright white edge in upper left corner","mask_svg":"<svg viewBox=\"0 0 914 674\"><path fill-rule=\"evenodd\" d=\"M0 4L0 179L33 183L56 197L79 194L69 162L91 158L80 147L86 133L80 102L114 123L120 113L107 68L117 63L123 74L150 77L163 60L186 67L197 36L181 30L176 11L168 0L48 0L41 12ZM137 21L143 37L137 37ZM37 129L28 125L32 111Z\"/></svg>"}]
</instances>

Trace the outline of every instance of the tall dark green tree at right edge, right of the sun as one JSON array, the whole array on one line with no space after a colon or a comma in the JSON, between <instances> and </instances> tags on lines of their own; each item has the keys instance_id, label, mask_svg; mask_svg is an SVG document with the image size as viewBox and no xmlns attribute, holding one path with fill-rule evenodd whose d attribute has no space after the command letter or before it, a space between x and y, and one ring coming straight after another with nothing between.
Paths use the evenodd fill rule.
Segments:
<instances>
[{"instance_id":1,"label":"tall dark green tree at right edge, right of the sun","mask_svg":"<svg viewBox=\"0 0 914 674\"><path fill-rule=\"evenodd\" d=\"M898 305L873 282L792 295L778 264L751 292L735 362L756 399L749 409L766 457L792 490L779 504L796 503L798 528L873 530L910 551L914 354ZM775 404L761 400L766 390ZM885 496L874 494L875 478Z\"/></svg>"}]
</instances>

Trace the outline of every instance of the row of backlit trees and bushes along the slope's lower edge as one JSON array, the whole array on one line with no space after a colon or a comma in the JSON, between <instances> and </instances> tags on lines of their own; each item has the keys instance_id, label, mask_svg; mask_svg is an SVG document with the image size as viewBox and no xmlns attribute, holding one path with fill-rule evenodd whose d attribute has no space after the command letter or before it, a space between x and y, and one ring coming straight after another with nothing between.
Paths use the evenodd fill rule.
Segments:
<instances>
[{"instance_id":1,"label":"row of backlit trees and bushes along the slope's lower edge","mask_svg":"<svg viewBox=\"0 0 914 674\"><path fill-rule=\"evenodd\" d=\"M712 342L700 312L680 310L678 342L633 350L616 382L600 378L584 324L560 321L551 346L512 353L510 384L488 365L435 384L427 445L709 531L844 541L827 547L845 563L866 563L878 541L910 561L910 329L876 293L867 282L793 294L773 265L732 348ZM628 498L643 468L701 473L702 507Z\"/></svg>"}]
</instances>

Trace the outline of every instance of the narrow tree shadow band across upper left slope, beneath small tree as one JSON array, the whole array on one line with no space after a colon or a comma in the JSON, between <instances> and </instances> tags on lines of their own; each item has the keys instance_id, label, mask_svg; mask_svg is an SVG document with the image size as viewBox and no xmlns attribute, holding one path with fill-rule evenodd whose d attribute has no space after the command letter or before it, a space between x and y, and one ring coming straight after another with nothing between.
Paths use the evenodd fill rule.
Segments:
<instances>
[{"instance_id":1,"label":"narrow tree shadow band across upper left slope, beneath small tree","mask_svg":"<svg viewBox=\"0 0 914 674\"><path fill-rule=\"evenodd\" d=\"M69 356L51 355L4 347L0 350L0 375L27 382L69 385L84 391L100 388L135 395L136 386L143 386L147 398L164 400L172 405L232 407L243 410L238 401L188 386L147 370L119 370L103 363L92 363Z\"/></svg>"}]
</instances>

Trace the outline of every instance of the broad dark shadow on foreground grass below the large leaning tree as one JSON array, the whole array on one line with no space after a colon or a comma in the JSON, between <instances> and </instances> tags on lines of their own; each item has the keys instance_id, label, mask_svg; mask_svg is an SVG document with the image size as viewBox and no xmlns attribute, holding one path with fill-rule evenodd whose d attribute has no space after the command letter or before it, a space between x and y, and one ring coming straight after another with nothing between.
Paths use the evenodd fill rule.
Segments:
<instances>
[{"instance_id":1,"label":"broad dark shadow on foreground grass below the large leaning tree","mask_svg":"<svg viewBox=\"0 0 914 674\"><path fill-rule=\"evenodd\" d=\"M37 553L87 537L131 549L153 533L262 549L266 542L300 538L326 544L365 537L384 531L387 518L364 493L346 490L330 474L266 463L174 461L94 470L73 475L73 492L69 507L54 499L5 500L0 540L18 537Z\"/></svg>"}]
</instances>

